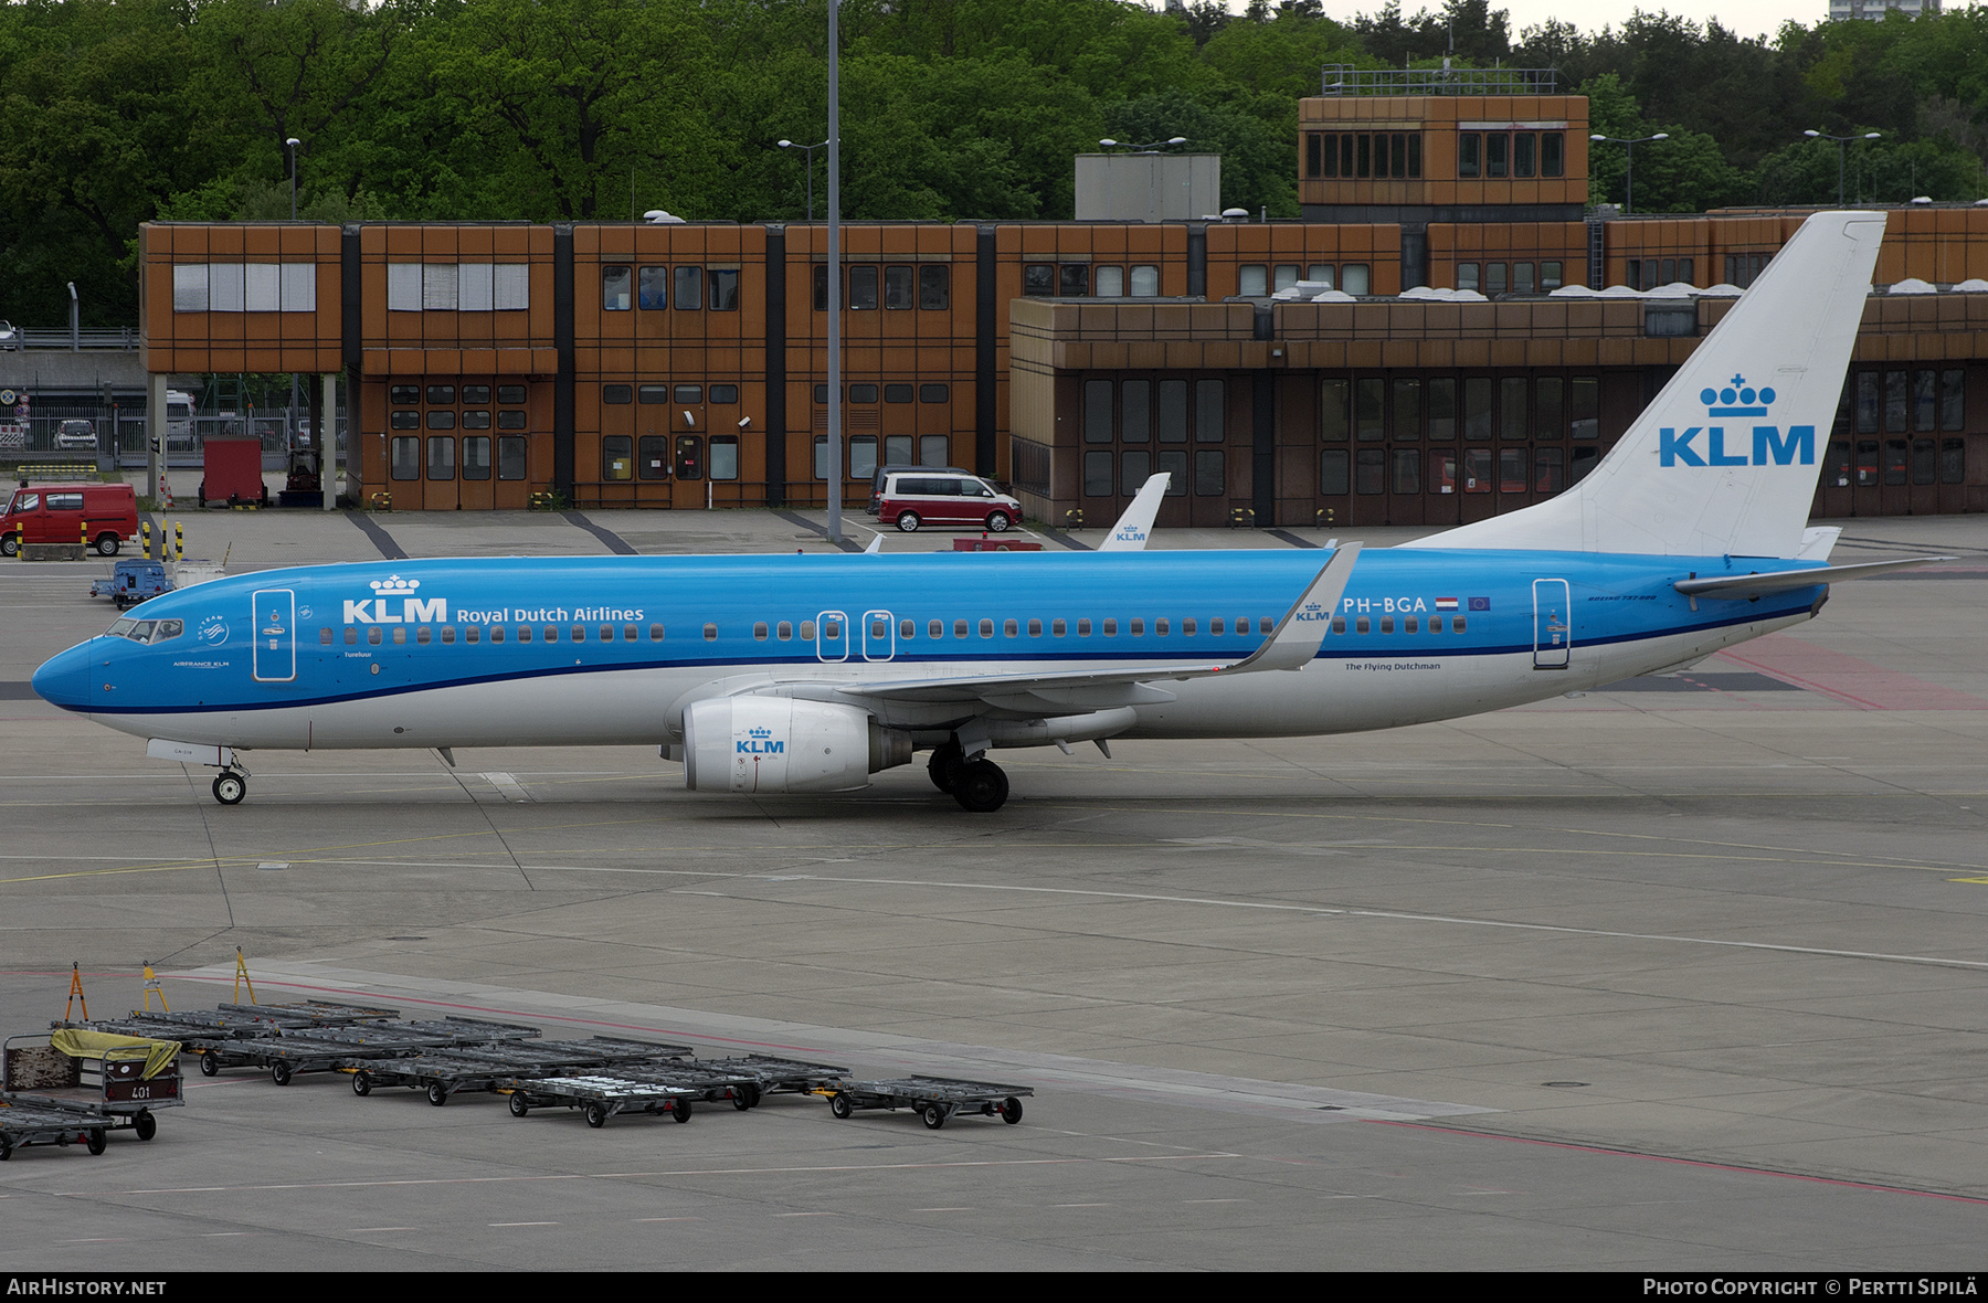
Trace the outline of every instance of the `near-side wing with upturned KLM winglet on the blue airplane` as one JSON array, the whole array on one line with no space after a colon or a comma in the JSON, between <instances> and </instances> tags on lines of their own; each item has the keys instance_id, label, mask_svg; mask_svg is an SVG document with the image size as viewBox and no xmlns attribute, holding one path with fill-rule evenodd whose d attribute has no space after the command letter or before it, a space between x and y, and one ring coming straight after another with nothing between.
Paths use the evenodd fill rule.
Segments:
<instances>
[{"instance_id":1,"label":"near-side wing with upturned KLM winglet on the blue airplane","mask_svg":"<svg viewBox=\"0 0 1988 1303\"><path fill-rule=\"evenodd\" d=\"M1175 661L1137 665L1131 669L1056 669L1048 673L960 673L928 675L907 679L857 679L837 681L833 691L839 697L869 697L875 701L918 701L918 703L968 703L986 701L1004 709L1040 709L1024 701L1036 697L1044 707L1056 711L1070 709L1079 697L1095 699L1095 689L1107 693L1111 703L1137 705L1145 701L1167 701L1163 693L1141 695L1139 685L1151 681L1205 679L1217 673L1252 673L1258 669L1302 669L1318 655L1318 646L1332 628L1332 612L1338 610L1346 580L1360 558L1360 544L1350 542L1332 554L1332 560L1312 578L1306 590L1290 604L1284 618L1276 622L1270 638L1239 661ZM819 681L815 681L819 685ZM791 689L793 683L777 683L775 689ZM1052 695L1044 695L1052 693Z\"/></svg>"}]
</instances>

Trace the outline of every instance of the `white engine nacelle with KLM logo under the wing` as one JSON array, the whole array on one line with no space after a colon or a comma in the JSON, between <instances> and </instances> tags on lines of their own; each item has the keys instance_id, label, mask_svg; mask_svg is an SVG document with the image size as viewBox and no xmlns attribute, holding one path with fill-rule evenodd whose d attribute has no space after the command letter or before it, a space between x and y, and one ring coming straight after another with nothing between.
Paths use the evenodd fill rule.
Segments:
<instances>
[{"instance_id":1,"label":"white engine nacelle with KLM logo under the wing","mask_svg":"<svg viewBox=\"0 0 1988 1303\"><path fill-rule=\"evenodd\" d=\"M684 787L700 793L849 793L911 761L911 735L853 705L706 697L684 711Z\"/></svg>"}]
</instances>

